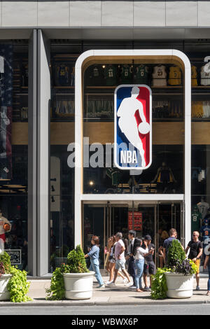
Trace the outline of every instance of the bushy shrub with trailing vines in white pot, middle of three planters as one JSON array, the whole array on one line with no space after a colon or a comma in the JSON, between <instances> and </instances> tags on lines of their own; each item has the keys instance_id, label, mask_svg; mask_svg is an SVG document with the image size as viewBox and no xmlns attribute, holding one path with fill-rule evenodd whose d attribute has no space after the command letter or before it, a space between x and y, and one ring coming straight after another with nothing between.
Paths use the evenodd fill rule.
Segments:
<instances>
[{"instance_id":1,"label":"bushy shrub with trailing vines in white pot, middle of three planters","mask_svg":"<svg viewBox=\"0 0 210 329\"><path fill-rule=\"evenodd\" d=\"M86 300L92 297L94 272L87 269L82 248L70 251L66 264L52 273L50 288L46 289L47 300Z\"/></svg>"}]
</instances>

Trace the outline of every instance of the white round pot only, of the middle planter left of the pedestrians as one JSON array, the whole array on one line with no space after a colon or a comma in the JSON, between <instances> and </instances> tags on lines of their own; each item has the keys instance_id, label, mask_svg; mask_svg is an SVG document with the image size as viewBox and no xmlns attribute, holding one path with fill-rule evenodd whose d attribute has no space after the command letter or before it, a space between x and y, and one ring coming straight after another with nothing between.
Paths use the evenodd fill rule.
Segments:
<instances>
[{"instance_id":1,"label":"white round pot only, of the middle planter left of the pedestrians","mask_svg":"<svg viewBox=\"0 0 210 329\"><path fill-rule=\"evenodd\" d=\"M88 300L92 297L94 272L64 273L65 297L67 300Z\"/></svg>"}]
</instances>

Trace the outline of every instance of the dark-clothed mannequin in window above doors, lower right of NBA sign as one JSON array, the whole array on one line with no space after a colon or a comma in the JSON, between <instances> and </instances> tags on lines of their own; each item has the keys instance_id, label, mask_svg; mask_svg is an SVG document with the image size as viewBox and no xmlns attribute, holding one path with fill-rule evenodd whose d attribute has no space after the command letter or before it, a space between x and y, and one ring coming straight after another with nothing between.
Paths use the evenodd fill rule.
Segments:
<instances>
[{"instance_id":1,"label":"dark-clothed mannequin in window above doors, lower right of NBA sign","mask_svg":"<svg viewBox=\"0 0 210 329\"><path fill-rule=\"evenodd\" d=\"M172 169L167 167L165 162L162 162L162 167L158 168L158 172L155 179L151 183L161 183L163 188L163 193L166 193L169 183L176 183Z\"/></svg>"}]
</instances>

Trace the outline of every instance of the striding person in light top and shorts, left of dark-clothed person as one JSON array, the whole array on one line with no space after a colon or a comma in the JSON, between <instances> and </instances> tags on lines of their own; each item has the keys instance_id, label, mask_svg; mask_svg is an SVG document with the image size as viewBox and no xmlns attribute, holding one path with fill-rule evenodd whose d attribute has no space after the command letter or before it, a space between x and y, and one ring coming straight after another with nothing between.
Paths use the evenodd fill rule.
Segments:
<instances>
[{"instance_id":1,"label":"striding person in light top and shorts, left of dark-clothed person","mask_svg":"<svg viewBox=\"0 0 210 329\"><path fill-rule=\"evenodd\" d=\"M116 234L116 244L115 244L115 251L114 256L116 259L116 267L113 282L107 283L108 286L116 286L116 279L118 277L119 269L122 270L123 274L127 278L128 283L125 283L126 286L130 286L130 277L125 269L125 244L123 242L123 234L118 232Z\"/></svg>"}]
</instances>

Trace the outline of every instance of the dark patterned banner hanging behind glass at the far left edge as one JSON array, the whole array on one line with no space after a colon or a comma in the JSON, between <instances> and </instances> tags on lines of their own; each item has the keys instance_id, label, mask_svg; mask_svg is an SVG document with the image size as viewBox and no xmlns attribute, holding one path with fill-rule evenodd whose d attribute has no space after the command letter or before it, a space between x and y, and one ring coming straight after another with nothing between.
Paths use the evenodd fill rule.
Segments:
<instances>
[{"instance_id":1,"label":"dark patterned banner hanging behind glass at the far left edge","mask_svg":"<svg viewBox=\"0 0 210 329\"><path fill-rule=\"evenodd\" d=\"M0 180L12 178L13 45L0 44Z\"/></svg>"}]
</instances>

